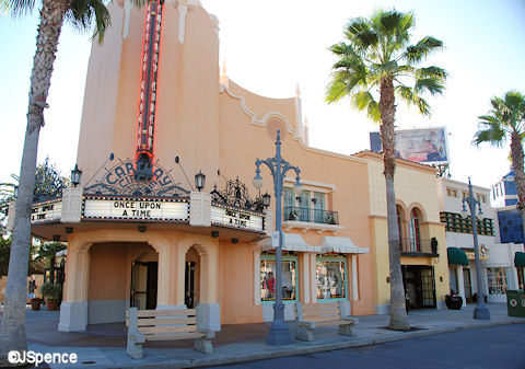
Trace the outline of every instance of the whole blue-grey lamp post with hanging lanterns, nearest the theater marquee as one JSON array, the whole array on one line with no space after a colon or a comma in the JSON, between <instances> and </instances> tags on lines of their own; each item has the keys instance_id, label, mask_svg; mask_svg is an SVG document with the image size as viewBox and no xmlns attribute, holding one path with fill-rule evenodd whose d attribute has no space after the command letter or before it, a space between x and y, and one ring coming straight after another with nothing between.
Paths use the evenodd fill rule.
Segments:
<instances>
[{"instance_id":1,"label":"whole blue-grey lamp post with hanging lanterns, nearest the theater marquee","mask_svg":"<svg viewBox=\"0 0 525 369\"><path fill-rule=\"evenodd\" d=\"M292 343L292 337L287 323L284 323L284 304L282 303L282 232L281 232L281 199L282 199L282 183L288 171L295 171L294 192L301 193L301 170L298 166L290 165L290 163L281 158L281 132L277 131L276 155L266 160L257 159L255 165L257 166L254 177L254 186L260 189L262 186L262 178L260 177L260 164L266 164L273 177L273 189L276 193L276 231L279 233L279 244L276 247L276 303L273 303L273 322L266 342L269 345L289 345ZM268 197L269 200L269 197Z\"/></svg>"}]
</instances>

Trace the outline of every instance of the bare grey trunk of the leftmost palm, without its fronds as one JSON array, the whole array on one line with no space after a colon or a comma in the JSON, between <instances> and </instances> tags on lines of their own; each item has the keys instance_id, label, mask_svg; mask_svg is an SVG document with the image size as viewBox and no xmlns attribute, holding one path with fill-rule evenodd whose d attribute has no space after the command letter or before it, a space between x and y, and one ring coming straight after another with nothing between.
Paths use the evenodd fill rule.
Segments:
<instances>
[{"instance_id":1,"label":"bare grey trunk of the leftmost palm, without its fronds","mask_svg":"<svg viewBox=\"0 0 525 369\"><path fill-rule=\"evenodd\" d=\"M36 37L36 51L31 76L30 103L24 151L20 169L13 240L5 286L3 315L0 326L0 365L8 366L10 350L27 349L25 341L25 298L27 293L27 262L31 246L31 210L35 187L38 137L44 126L44 107L57 53L58 39L68 3L44 0Z\"/></svg>"}]
</instances>

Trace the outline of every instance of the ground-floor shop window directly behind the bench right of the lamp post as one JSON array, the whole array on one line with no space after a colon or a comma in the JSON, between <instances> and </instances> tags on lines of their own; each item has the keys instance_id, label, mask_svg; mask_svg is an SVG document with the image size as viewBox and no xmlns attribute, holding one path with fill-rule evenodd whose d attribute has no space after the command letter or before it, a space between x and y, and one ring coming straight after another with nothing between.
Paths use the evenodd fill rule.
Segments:
<instances>
[{"instance_id":1,"label":"ground-floor shop window directly behind the bench right of the lamp post","mask_svg":"<svg viewBox=\"0 0 525 369\"><path fill-rule=\"evenodd\" d=\"M316 295L318 301L347 297L347 261L343 256L317 257L315 264Z\"/></svg>"}]
</instances>

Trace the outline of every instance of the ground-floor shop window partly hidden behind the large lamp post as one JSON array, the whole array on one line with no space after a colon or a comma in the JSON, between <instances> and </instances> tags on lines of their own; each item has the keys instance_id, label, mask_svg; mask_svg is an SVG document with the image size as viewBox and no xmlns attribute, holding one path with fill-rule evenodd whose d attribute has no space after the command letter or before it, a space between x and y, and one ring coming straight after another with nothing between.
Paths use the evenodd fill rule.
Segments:
<instances>
[{"instance_id":1,"label":"ground-floor shop window partly hidden behind the large lamp post","mask_svg":"<svg viewBox=\"0 0 525 369\"><path fill-rule=\"evenodd\" d=\"M298 256L282 255L282 300L296 301ZM276 301L276 255L260 255L260 301Z\"/></svg>"}]
</instances>

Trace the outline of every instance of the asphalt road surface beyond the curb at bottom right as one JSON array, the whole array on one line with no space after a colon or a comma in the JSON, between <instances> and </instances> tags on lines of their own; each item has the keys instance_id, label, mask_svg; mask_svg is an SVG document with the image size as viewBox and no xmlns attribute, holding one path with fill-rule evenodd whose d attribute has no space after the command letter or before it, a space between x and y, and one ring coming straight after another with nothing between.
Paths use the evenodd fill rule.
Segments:
<instances>
[{"instance_id":1,"label":"asphalt road surface beyond the curb at bottom right","mask_svg":"<svg viewBox=\"0 0 525 369\"><path fill-rule=\"evenodd\" d=\"M498 325L214 368L525 369L525 324Z\"/></svg>"}]
</instances>

